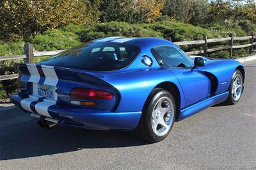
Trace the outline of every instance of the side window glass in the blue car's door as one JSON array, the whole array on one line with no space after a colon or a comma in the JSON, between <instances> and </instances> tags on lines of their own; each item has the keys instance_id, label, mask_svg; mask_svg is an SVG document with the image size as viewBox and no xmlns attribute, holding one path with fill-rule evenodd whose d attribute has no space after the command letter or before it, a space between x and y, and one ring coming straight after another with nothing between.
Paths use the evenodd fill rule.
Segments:
<instances>
[{"instance_id":1,"label":"side window glass in the blue car's door","mask_svg":"<svg viewBox=\"0 0 256 170\"><path fill-rule=\"evenodd\" d=\"M155 58L161 57L168 67L190 67L188 59L186 59L179 50L170 46L154 47L151 51Z\"/></svg>"}]
</instances>

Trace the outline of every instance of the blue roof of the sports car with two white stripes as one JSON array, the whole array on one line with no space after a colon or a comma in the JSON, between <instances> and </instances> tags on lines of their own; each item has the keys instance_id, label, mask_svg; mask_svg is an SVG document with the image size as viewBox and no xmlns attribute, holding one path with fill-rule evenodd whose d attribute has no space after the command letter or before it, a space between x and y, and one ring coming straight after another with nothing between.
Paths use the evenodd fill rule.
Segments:
<instances>
[{"instance_id":1,"label":"blue roof of the sports car with two white stripes","mask_svg":"<svg viewBox=\"0 0 256 170\"><path fill-rule=\"evenodd\" d=\"M115 43L129 43L131 45L136 45L140 48L143 47L154 47L158 45L175 45L168 40L164 40L163 38L155 38L155 37L123 37L123 36L111 36L104 37L93 40L93 42L115 42ZM175 45L177 46L177 45Z\"/></svg>"}]
</instances>

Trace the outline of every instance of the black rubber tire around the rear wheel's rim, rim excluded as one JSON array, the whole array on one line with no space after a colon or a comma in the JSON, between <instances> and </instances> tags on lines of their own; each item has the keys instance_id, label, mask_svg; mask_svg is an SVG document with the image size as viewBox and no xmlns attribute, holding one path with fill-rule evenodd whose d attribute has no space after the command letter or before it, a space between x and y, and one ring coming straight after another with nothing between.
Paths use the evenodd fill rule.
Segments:
<instances>
[{"instance_id":1,"label":"black rubber tire around the rear wheel's rim, rim excluded","mask_svg":"<svg viewBox=\"0 0 256 170\"><path fill-rule=\"evenodd\" d=\"M172 101L173 104L173 119L172 124L170 124L170 129L165 135L157 135L155 134L153 128L152 128L152 112L154 110L154 106L157 104L157 101L160 100L162 97L168 97ZM140 119L140 123L138 124L136 128L136 134L139 135L139 137L147 140L150 143L157 143L159 141L162 141L166 136L170 133L173 127L173 123L175 121L175 113L176 113L176 107L175 107L175 100L172 96L172 94L169 91L166 91L162 88L156 88L154 89L149 97L147 98L147 102L145 103Z\"/></svg>"}]
</instances>

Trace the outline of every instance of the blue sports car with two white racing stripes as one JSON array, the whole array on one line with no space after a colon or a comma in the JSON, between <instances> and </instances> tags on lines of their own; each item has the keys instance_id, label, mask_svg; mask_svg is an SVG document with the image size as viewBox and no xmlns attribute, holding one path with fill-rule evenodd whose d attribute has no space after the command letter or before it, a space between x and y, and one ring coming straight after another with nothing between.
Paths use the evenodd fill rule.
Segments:
<instances>
[{"instance_id":1,"label":"blue sports car with two white racing stripes","mask_svg":"<svg viewBox=\"0 0 256 170\"><path fill-rule=\"evenodd\" d=\"M236 104L244 66L188 56L160 38L99 38L36 65L16 65L13 104L41 127L134 130L152 143L174 121L211 105Z\"/></svg>"}]
</instances>

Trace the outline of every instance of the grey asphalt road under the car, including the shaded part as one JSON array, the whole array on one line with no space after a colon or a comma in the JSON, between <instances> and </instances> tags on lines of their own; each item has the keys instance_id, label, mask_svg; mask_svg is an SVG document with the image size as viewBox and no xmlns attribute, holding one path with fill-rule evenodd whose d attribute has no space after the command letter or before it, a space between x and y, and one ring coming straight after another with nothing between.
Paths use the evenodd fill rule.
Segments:
<instances>
[{"instance_id":1,"label":"grey asphalt road under the car, including the shaded part","mask_svg":"<svg viewBox=\"0 0 256 170\"><path fill-rule=\"evenodd\" d=\"M40 128L17 108L1 111L0 169L256 169L256 61L243 97L175 123L162 142L128 132Z\"/></svg>"}]
</instances>

